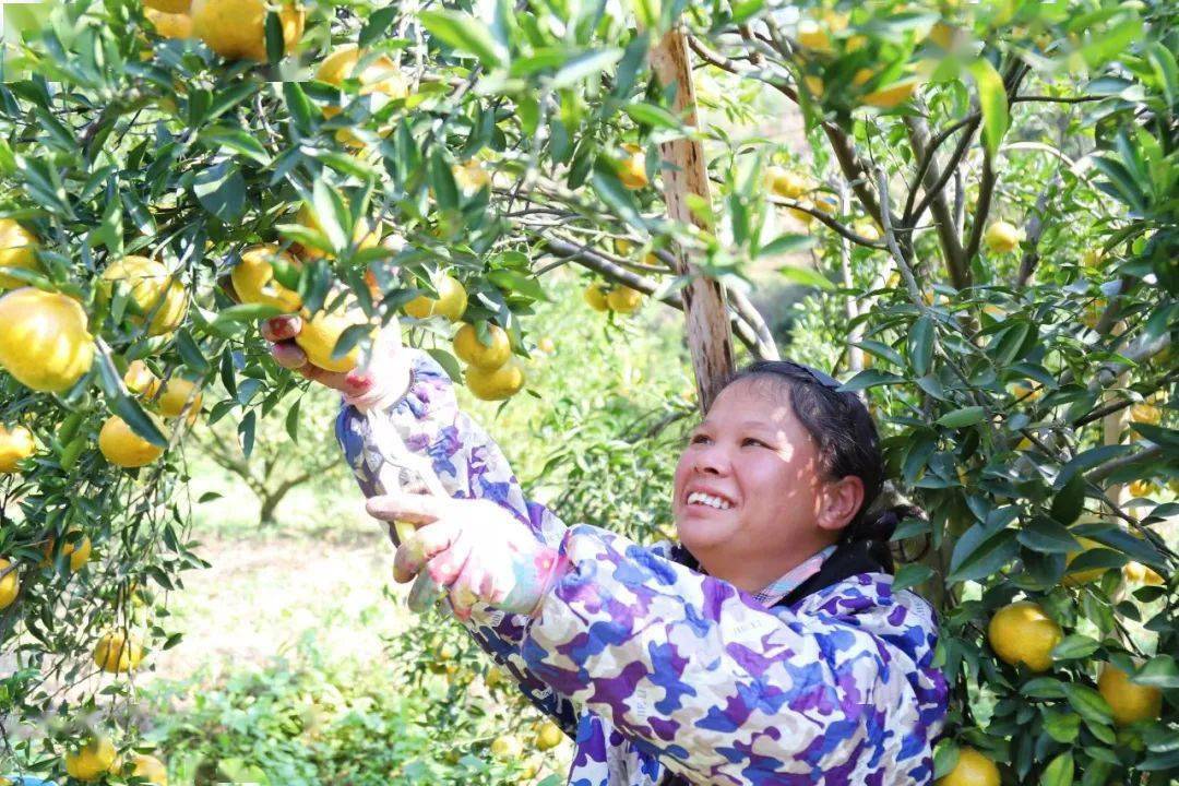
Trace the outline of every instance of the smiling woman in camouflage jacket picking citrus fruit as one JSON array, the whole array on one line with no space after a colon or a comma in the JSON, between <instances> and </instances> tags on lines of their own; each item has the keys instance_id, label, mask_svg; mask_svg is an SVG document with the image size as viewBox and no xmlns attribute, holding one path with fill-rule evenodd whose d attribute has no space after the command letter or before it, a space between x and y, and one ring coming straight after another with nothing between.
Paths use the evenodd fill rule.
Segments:
<instances>
[{"instance_id":1,"label":"smiling woman in camouflage jacket picking citrus fruit","mask_svg":"<svg viewBox=\"0 0 1179 786\"><path fill-rule=\"evenodd\" d=\"M395 577L443 588L480 646L577 741L575 786L926 784L946 715L930 607L891 588L903 510L863 403L793 363L738 374L674 478L679 546L566 527L526 501L446 372L387 330L365 372L276 358L344 392L337 437L386 521L420 529ZM381 495L381 429L449 498Z\"/></svg>"}]
</instances>

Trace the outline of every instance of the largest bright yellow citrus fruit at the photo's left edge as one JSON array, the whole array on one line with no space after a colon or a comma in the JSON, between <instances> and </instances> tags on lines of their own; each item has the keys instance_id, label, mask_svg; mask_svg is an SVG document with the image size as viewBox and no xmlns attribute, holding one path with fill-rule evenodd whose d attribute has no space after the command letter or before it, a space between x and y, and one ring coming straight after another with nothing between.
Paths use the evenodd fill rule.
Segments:
<instances>
[{"instance_id":1,"label":"largest bright yellow citrus fruit at the photo's left edge","mask_svg":"<svg viewBox=\"0 0 1179 786\"><path fill-rule=\"evenodd\" d=\"M90 371L93 338L74 299L26 286L0 297L0 366L26 388L62 392Z\"/></svg>"}]
</instances>

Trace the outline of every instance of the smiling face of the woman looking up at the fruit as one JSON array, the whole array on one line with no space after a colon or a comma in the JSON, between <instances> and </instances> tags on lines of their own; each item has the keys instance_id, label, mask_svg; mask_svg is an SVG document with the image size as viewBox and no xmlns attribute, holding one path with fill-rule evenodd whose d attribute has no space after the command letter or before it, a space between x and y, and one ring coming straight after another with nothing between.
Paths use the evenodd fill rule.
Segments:
<instances>
[{"instance_id":1,"label":"smiling face of the woman looking up at the fruit","mask_svg":"<svg viewBox=\"0 0 1179 786\"><path fill-rule=\"evenodd\" d=\"M691 432L672 513L680 542L710 573L760 566L772 581L834 541L821 524L824 487L817 444L795 417L789 388L746 378L725 388Z\"/></svg>"}]
</instances>

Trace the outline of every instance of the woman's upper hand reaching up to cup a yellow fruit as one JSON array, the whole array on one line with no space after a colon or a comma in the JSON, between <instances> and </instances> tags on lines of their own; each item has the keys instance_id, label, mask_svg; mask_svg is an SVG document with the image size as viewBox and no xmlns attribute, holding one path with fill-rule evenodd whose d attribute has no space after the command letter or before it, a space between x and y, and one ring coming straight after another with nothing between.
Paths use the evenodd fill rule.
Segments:
<instances>
[{"instance_id":1,"label":"woman's upper hand reaching up to cup a yellow fruit","mask_svg":"<svg viewBox=\"0 0 1179 786\"><path fill-rule=\"evenodd\" d=\"M368 361L347 372L311 365L307 354L295 343L302 329L301 317L284 315L263 322L262 337L274 344L270 354L279 365L341 391L349 404L367 409L400 396L409 387L409 356L401 345L401 326L396 318L377 333Z\"/></svg>"}]
</instances>

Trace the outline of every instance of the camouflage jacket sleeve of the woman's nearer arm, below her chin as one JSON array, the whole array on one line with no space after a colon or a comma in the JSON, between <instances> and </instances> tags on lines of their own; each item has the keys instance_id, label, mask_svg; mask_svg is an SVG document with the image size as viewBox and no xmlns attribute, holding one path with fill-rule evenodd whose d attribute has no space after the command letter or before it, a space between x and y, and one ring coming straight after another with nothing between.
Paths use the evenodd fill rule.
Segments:
<instances>
[{"instance_id":1,"label":"camouflage jacket sleeve of the woman's nearer arm, below her chin","mask_svg":"<svg viewBox=\"0 0 1179 786\"><path fill-rule=\"evenodd\" d=\"M921 665L893 645L934 635L931 619L888 608L875 584L822 613L766 609L594 527L561 549L528 668L672 770L700 784L931 780L936 728L905 678Z\"/></svg>"}]
</instances>

